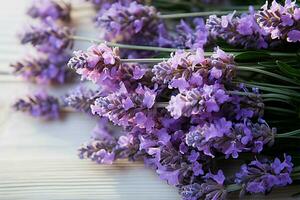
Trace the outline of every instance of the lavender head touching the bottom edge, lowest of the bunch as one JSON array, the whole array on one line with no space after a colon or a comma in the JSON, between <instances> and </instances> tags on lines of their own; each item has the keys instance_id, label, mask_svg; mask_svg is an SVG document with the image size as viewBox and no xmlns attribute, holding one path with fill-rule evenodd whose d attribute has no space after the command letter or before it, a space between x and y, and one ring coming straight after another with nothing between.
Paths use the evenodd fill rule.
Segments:
<instances>
[{"instance_id":1,"label":"lavender head touching the bottom edge, lowest of the bunch","mask_svg":"<svg viewBox=\"0 0 300 200\"><path fill-rule=\"evenodd\" d=\"M224 186L225 176L221 170L217 174L207 173L203 183L193 183L180 188L183 200L215 199L224 200L227 191Z\"/></svg>"}]
</instances>

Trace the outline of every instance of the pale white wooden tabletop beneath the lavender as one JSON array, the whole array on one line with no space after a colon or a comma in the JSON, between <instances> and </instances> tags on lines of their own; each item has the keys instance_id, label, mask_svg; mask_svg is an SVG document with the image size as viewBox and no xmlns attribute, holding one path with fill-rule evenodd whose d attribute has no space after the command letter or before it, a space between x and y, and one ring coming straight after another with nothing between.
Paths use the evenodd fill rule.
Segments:
<instances>
[{"instance_id":1,"label":"pale white wooden tabletop beneath the lavender","mask_svg":"<svg viewBox=\"0 0 300 200\"><path fill-rule=\"evenodd\" d=\"M1 71L9 70L9 63L28 51L18 44L15 35L28 22L25 8L29 3L30 0L1 2ZM79 34L96 36L90 23L92 15L88 9L74 13ZM13 101L38 87L14 77L1 76L0 80L0 199L180 199L175 188L142 163L120 161L113 166L100 166L79 160L77 147L88 140L95 121L73 113L63 121L46 123L16 113L11 109ZM50 91L60 95L71 87ZM287 189L278 190L268 198L287 199L286 194Z\"/></svg>"}]
</instances>

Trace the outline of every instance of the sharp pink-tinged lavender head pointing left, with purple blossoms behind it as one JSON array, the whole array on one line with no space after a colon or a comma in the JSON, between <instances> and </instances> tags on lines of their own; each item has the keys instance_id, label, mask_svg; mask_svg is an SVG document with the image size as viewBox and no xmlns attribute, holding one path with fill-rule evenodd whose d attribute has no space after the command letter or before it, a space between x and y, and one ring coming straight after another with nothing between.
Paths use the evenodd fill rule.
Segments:
<instances>
[{"instance_id":1,"label":"sharp pink-tinged lavender head pointing left, with purple blossoms behind it","mask_svg":"<svg viewBox=\"0 0 300 200\"><path fill-rule=\"evenodd\" d=\"M109 48L106 44L94 45L86 52L74 52L68 63L83 79L117 90L120 82L127 88L136 87L139 80L146 77L147 69L138 64L121 64L118 48ZM144 78L146 79L146 78Z\"/></svg>"}]
</instances>

